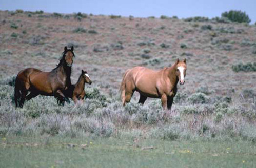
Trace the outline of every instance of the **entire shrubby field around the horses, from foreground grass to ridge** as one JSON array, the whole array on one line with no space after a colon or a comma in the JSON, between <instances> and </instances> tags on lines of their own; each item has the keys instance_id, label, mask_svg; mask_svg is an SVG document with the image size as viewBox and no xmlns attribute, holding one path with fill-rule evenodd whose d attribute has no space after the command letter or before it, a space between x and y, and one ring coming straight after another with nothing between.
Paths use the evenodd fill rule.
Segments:
<instances>
[{"instance_id":1,"label":"entire shrubby field around the horses, from foreground grass to ridge","mask_svg":"<svg viewBox=\"0 0 256 168\"><path fill-rule=\"evenodd\" d=\"M0 19L0 167L256 166L254 25L39 11ZM76 54L72 83L82 69L92 79L85 101L37 96L15 108L17 73L51 71L65 46ZM127 69L177 58L187 59L187 75L171 111L160 99L137 104L137 93L122 106Z\"/></svg>"}]
</instances>

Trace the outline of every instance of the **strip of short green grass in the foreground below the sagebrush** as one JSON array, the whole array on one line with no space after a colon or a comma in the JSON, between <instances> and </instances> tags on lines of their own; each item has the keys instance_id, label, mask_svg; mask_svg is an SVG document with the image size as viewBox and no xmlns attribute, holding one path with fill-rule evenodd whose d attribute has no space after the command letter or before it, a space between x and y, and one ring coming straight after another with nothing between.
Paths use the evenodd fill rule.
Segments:
<instances>
[{"instance_id":1,"label":"strip of short green grass in the foreground below the sagebrush","mask_svg":"<svg viewBox=\"0 0 256 168\"><path fill-rule=\"evenodd\" d=\"M7 137L0 167L254 167L256 145L243 141ZM90 143L91 142L91 143ZM73 148L68 144L74 144ZM82 148L82 144L87 147ZM154 149L142 148L153 146ZM244 163L243 163L244 162Z\"/></svg>"}]
</instances>

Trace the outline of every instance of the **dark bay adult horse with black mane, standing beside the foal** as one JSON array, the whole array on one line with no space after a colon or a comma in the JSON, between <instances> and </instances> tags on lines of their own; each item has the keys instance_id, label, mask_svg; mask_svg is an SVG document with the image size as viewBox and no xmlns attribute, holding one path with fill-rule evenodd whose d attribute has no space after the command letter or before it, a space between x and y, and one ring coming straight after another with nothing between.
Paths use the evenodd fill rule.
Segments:
<instances>
[{"instance_id":1,"label":"dark bay adult horse with black mane, standing beside the foal","mask_svg":"<svg viewBox=\"0 0 256 168\"><path fill-rule=\"evenodd\" d=\"M25 100L37 95L54 96L58 102L64 104L63 90L71 86L71 66L74 52L64 48L63 56L57 67L51 72L43 72L35 68L27 68L18 73L15 80L14 100L16 107L23 107ZM29 95L27 95L29 93Z\"/></svg>"}]
</instances>

